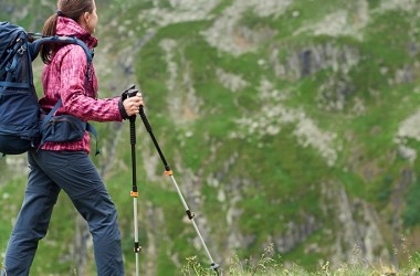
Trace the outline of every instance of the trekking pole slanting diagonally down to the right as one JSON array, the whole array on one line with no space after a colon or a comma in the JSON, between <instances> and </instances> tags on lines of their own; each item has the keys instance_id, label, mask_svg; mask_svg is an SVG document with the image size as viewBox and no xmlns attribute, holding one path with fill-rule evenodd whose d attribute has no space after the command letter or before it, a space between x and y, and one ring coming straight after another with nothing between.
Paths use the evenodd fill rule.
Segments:
<instances>
[{"instance_id":1,"label":"trekking pole slanting diagonally down to the right","mask_svg":"<svg viewBox=\"0 0 420 276\"><path fill-rule=\"evenodd\" d=\"M210 259L210 264L211 264L211 265L210 265L210 268L213 269L213 270L217 273L217 275L219 275L219 270L218 270L219 265L214 263L213 258L211 257L211 254L210 254L209 250L207 248L206 242L204 242L204 240L202 238L202 236L201 236L201 234L200 234L200 231L199 231L199 229L198 229L198 226L197 226L197 224L196 224L196 221L193 220L193 217L195 217L195 213L191 212L191 211L189 210L189 208L188 208L188 205L187 205L187 202L186 202L186 200L185 200L183 197L182 197L182 193L181 193L181 191L180 191L180 189L179 189L179 187L178 187L178 184L177 184L177 181L176 181L175 178L174 178L172 171L171 171L171 169L170 169L168 162L166 161L162 151L160 150L159 144L157 142L157 140L156 140L156 138L155 138L155 135L154 135L154 132L153 132L153 130L151 130L151 126L150 126L150 124L149 124L149 121L148 121L148 119L147 119L147 117L146 117L146 115L145 115L145 112L144 112L144 109L143 109L143 106L140 106L139 113L140 113L141 120L143 120L143 123L144 123L144 125L145 125L147 131L149 132L150 138L151 138L153 142L155 144L155 147L156 147L156 149L157 149L157 151L158 151L158 153L159 153L159 156L160 156L160 159L161 159L161 161L162 161L162 163L164 163L164 166L165 166L165 174L168 176L168 177L170 177L170 179L172 180L174 187L175 187L175 189L176 189L177 192L178 192L179 199L180 199L181 202L182 202L182 205L183 205L183 208L185 208L185 210L186 210L187 216L188 216L188 219L191 221L191 223L192 223L192 225L193 225L193 227L195 227L195 230L196 230L196 232L197 232L197 235L198 235L198 237L200 238L202 246L204 247L204 251L206 251L206 253L207 253L207 256L208 256L209 259Z\"/></svg>"}]
</instances>

